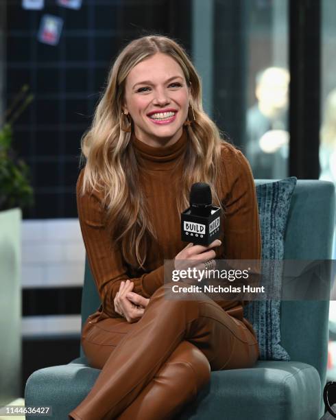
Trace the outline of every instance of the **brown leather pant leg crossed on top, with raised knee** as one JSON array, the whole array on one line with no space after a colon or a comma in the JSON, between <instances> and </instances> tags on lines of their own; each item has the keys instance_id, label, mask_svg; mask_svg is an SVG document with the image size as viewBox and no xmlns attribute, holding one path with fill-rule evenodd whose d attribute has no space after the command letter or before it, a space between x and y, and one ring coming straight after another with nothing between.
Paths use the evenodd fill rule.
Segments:
<instances>
[{"instance_id":1,"label":"brown leather pant leg crossed on top, with raised knee","mask_svg":"<svg viewBox=\"0 0 336 420\"><path fill-rule=\"evenodd\" d=\"M180 342L187 340L211 370L250 367L258 358L255 336L205 294L167 299L171 284L156 290L132 331L110 354L95 385L70 413L73 419L114 419L152 381Z\"/></svg>"}]
</instances>

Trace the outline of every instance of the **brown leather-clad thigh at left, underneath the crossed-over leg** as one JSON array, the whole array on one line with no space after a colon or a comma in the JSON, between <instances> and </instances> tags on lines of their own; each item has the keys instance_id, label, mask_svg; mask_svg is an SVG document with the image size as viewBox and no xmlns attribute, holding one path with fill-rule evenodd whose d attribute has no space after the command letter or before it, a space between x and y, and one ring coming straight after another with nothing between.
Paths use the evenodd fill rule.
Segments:
<instances>
[{"instance_id":1,"label":"brown leather-clad thigh at left, underneath the crossed-over leg","mask_svg":"<svg viewBox=\"0 0 336 420\"><path fill-rule=\"evenodd\" d=\"M106 360L115 347L123 340L136 323L128 323L124 318L106 318L92 322L88 317L82 331L82 347L88 364L103 369Z\"/></svg>"}]
</instances>

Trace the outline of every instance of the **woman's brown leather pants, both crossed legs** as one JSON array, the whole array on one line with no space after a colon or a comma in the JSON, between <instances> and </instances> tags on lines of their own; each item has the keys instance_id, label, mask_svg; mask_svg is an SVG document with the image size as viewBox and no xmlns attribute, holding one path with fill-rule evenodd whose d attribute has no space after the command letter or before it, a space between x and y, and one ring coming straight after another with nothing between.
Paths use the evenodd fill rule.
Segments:
<instances>
[{"instance_id":1,"label":"woman's brown leather pants, both crossed legs","mask_svg":"<svg viewBox=\"0 0 336 420\"><path fill-rule=\"evenodd\" d=\"M88 317L84 353L102 370L69 419L173 419L210 371L253 366L259 349L250 327L205 294L172 300L168 290L156 290L136 323Z\"/></svg>"}]
</instances>

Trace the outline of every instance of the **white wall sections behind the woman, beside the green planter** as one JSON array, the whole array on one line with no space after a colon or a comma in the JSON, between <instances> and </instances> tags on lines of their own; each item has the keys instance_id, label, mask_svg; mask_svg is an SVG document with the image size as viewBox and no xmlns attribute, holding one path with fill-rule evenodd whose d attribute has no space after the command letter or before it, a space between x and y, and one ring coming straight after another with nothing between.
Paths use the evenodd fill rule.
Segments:
<instances>
[{"instance_id":1,"label":"white wall sections behind the woman, beside the green planter","mask_svg":"<svg viewBox=\"0 0 336 420\"><path fill-rule=\"evenodd\" d=\"M23 220L22 288L82 286L85 248L77 219ZM80 315L25 316L24 337L80 334Z\"/></svg>"}]
</instances>

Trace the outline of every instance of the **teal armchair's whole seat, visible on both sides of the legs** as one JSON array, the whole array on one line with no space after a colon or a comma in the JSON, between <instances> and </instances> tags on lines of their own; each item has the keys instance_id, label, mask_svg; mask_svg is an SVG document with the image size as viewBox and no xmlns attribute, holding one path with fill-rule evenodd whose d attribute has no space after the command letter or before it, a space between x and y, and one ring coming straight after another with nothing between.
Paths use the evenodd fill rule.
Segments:
<instances>
[{"instance_id":1,"label":"teal armchair's whole seat, visible on both sides of the legs","mask_svg":"<svg viewBox=\"0 0 336 420\"><path fill-rule=\"evenodd\" d=\"M88 367L85 358L40 369L27 381L25 405L52 406L53 414L48 419L67 419L99 373L99 369ZM316 420L319 410L320 377L313 366L258 361L251 369L211 372L209 384L184 408L179 419Z\"/></svg>"}]
</instances>

